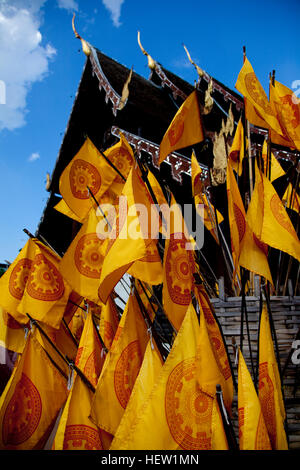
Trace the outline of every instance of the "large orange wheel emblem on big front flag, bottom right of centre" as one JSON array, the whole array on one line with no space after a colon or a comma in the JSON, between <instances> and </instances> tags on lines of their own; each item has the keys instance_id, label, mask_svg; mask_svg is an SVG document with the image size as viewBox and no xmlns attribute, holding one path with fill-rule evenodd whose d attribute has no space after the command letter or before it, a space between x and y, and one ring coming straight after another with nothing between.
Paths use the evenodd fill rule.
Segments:
<instances>
[{"instance_id":1,"label":"large orange wheel emblem on big front flag, bottom right of centre","mask_svg":"<svg viewBox=\"0 0 300 470\"><path fill-rule=\"evenodd\" d=\"M181 449L210 450L213 399L195 385L195 373L195 357L174 367L166 385L165 413Z\"/></svg>"}]
</instances>

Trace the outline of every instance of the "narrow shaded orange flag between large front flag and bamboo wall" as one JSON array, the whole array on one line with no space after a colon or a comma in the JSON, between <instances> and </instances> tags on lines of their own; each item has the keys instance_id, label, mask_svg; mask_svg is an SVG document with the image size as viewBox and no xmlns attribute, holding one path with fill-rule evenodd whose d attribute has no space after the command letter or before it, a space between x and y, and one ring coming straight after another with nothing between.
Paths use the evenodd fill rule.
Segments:
<instances>
[{"instance_id":1,"label":"narrow shaded orange flag between large front flag and bamboo wall","mask_svg":"<svg viewBox=\"0 0 300 470\"><path fill-rule=\"evenodd\" d=\"M211 349L214 353L215 361L223 376L222 379L222 392L226 409L231 413L231 406L233 400L233 380L229 364L229 359L226 351L226 346L222 337L220 327L215 319L213 307L210 303L209 297L203 285L197 285L195 289L198 305L201 310L202 318L206 322L206 329L208 332ZM203 321L204 321L203 320Z\"/></svg>"}]
</instances>

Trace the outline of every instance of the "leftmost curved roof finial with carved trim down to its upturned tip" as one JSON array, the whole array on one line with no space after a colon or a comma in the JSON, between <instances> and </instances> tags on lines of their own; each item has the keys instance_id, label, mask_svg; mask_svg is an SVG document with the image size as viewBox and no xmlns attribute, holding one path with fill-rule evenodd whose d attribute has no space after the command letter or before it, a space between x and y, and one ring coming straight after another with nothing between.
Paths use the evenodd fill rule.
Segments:
<instances>
[{"instance_id":1,"label":"leftmost curved roof finial with carved trim down to its upturned tip","mask_svg":"<svg viewBox=\"0 0 300 470\"><path fill-rule=\"evenodd\" d=\"M74 19L75 19L75 13L73 15L72 19L72 28L75 34L75 37L77 39L80 39L81 44L82 44L82 50L85 53L87 57L89 57L92 67L93 67L93 73L96 75L99 81L99 89L101 90L102 88L105 91L105 102L108 103L108 100L111 101L113 105L113 114L116 116L117 111L120 111L121 109L124 108L124 106L127 103L128 96L129 96L129 83L131 81L132 77L132 68L129 72L129 75L127 79L125 80L123 90L122 90L122 95L120 96L114 88L111 86L110 82L108 81L107 77L104 75L104 72L101 68L98 55L94 47L89 44L87 41L85 41L76 31L75 29L75 24L74 24Z\"/></svg>"}]
</instances>

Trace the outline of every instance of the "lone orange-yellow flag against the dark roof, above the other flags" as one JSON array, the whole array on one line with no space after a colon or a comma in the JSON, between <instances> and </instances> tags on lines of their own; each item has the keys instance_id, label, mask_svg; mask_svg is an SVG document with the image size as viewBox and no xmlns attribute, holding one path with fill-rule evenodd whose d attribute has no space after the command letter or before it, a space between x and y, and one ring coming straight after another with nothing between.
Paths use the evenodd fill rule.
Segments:
<instances>
[{"instance_id":1,"label":"lone orange-yellow flag against the dark roof, above the other flags","mask_svg":"<svg viewBox=\"0 0 300 470\"><path fill-rule=\"evenodd\" d=\"M197 91L193 91L180 106L168 127L159 148L161 164L172 152L202 142L204 139Z\"/></svg>"}]
</instances>

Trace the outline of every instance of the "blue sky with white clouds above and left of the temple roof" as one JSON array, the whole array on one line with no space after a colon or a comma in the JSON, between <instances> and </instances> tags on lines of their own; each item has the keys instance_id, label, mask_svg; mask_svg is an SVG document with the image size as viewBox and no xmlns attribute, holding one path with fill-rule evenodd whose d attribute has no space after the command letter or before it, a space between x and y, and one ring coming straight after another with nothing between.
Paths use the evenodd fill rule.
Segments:
<instances>
[{"instance_id":1,"label":"blue sky with white clouds above and left of the temple roof","mask_svg":"<svg viewBox=\"0 0 300 470\"><path fill-rule=\"evenodd\" d=\"M193 83L194 61L234 88L242 47L267 91L268 75L300 80L299 0L0 0L0 262L35 232L85 63L78 32L104 54L148 77L150 55ZM149 105L151 105L149 103ZM58 228L59 229L59 228Z\"/></svg>"}]
</instances>

